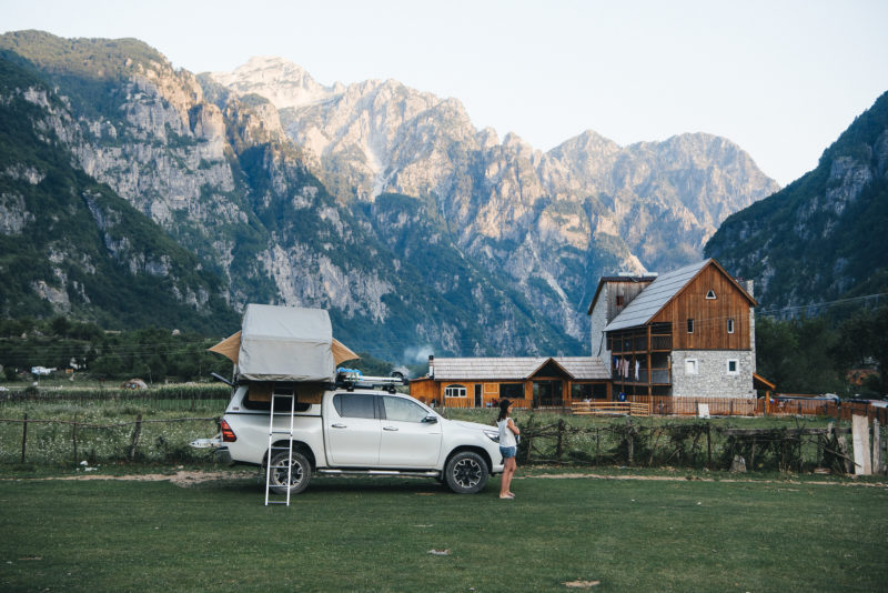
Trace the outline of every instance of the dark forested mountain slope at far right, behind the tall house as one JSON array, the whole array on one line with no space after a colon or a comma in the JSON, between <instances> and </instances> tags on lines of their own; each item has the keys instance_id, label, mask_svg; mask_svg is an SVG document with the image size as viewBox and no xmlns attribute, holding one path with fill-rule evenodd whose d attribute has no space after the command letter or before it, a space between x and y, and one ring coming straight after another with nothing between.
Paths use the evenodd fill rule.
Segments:
<instances>
[{"instance_id":1,"label":"dark forested mountain slope at far right, behind the tall house","mask_svg":"<svg viewBox=\"0 0 888 593\"><path fill-rule=\"evenodd\" d=\"M816 169L729 217L706 254L756 280L766 309L888 292L888 92ZM817 310L815 310L817 312Z\"/></svg>"}]
</instances>

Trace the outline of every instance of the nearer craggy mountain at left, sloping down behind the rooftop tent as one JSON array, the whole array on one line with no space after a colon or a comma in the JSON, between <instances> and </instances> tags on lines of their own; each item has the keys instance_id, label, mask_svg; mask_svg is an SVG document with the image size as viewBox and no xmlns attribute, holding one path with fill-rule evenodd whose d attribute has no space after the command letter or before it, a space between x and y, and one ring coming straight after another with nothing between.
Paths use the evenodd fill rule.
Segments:
<instances>
[{"instance_id":1,"label":"nearer craggy mountain at left, sloping down behind the rooftop tent","mask_svg":"<svg viewBox=\"0 0 888 593\"><path fill-rule=\"evenodd\" d=\"M196 78L173 71L134 40L61 40L27 31L0 37L0 48L9 50L2 56L9 70L30 77L10 74L10 94L39 92L32 84L38 81L56 89L53 97L64 107L63 122L42 113L31 128L51 128L59 149L70 154L68 165L141 212L154 228L145 234L169 234L194 253L190 269L215 274L230 310L246 302L323 306L337 336L390 360L431 348L485 353L582 348L534 311L505 274L481 269L454 249L434 212L402 208L397 195L383 197L370 210L334 200L284 137L268 100L248 94L220 109L204 99ZM0 168L19 171L18 159L10 140ZM47 224L46 211L34 213L11 192L3 204L12 219L33 222L4 230L10 242ZM421 244L400 245L408 258L374 232L371 221L386 217L408 217L422 237ZM56 258L75 260L85 249L70 241ZM420 255L437 265L417 264ZM155 279L173 287L178 281ZM70 296L72 289L59 290ZM63 299L48 301L26 285L19 301L4 299L2 306L10 315L29 313L21 303L63 311ZM125 321L88 304L79 313ZM230 321L226 331L236 330L234 315L220 316ZM169 321L164 314L152 320Z\"/></svg>"}]
</instances>

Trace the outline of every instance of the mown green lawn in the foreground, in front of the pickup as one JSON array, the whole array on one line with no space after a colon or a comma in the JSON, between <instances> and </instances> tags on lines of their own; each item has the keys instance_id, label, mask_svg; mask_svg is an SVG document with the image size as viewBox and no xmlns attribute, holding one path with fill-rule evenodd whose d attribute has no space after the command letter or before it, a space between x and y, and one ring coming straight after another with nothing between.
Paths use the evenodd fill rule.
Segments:
<instances>
[{"instance_id":1,"label":"mown green lawn in the foreground, in front of the pickup","mask_svg":"<svg viewBox=\"0 0 888 593\"><path fill-rule=\"evenodd\" d=\"M522 475L524 473L524 475ZM528 476L527 474L536 475ZM0 481L2 591L885 591L888 488L552 479ZM450 550L446 555L430 550Z\"/></svg>"}]
</instances>

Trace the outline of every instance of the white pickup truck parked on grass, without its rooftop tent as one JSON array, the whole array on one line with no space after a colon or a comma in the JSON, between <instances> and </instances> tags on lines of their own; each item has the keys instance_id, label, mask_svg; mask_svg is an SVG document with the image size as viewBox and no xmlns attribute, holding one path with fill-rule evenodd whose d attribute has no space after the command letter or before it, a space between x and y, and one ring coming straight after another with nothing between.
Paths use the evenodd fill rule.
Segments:
<instances>
[{"instance_id":1,"label":"white pickup truck parked on grass, without its rooftop tent","mask_svg":"<svg viewBox=\"0 0 888 593\"><path fill-rule=\"evenodd\" d=\"M233 462L266 466L278 494L302 492L314 473L427 476L470 494L503 472L494 426L447 420L394 390L332 389L312 399L320 403L303 403L299 389L294 383L274 386L270 428L272 398L251 398L249 383L234 386L221 434L195 441L195 446L214 446Z\"/></svg>"}]
</instances>

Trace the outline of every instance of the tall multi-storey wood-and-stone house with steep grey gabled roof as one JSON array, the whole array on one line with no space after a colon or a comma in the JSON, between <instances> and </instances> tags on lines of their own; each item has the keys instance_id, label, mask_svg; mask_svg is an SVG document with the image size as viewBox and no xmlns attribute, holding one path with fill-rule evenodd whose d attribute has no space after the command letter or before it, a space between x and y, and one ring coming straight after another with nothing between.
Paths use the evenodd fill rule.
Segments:
<instances>
[{"instance_id":1,"label":"tall multi-storey wood-and-stone house with steep grey gabled roof","mask_svg":"<svg viewBox=\"0 0 888 593\"><path fill-rule=\"evenodd\" d=\"M588 313L615 394L754 398L755 300L715 260L603 278Z\"/></svg>"}]
</instances>

